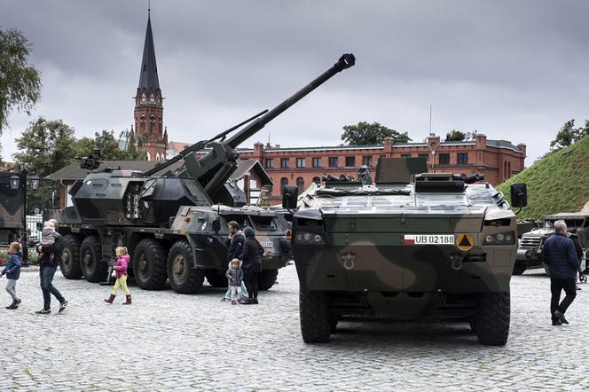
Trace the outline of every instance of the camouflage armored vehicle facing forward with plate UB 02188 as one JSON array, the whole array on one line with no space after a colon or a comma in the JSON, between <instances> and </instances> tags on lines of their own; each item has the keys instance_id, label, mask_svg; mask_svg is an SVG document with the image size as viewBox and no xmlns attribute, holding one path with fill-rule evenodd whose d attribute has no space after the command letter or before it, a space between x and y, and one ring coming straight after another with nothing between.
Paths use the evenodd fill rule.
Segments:
<instances>
[{"instance_id":1,"label":"camouflage armored vehicle facing forward with plate UB 02188","mask_svg":"<svg viewBox=\"0 0 589 392\"><path fill-rule=\"evenodd\" d=\"M506 344L514 212L482 176L410 166L381 159L375 183L367 169L361 182L327 182L294 213L303 341L327 341L342 316L388 315L456 318L483 344ZM295 196L285 189L285 208ZM525 184L512 200L526 205Z\"/></svg>"}]
</instances>

